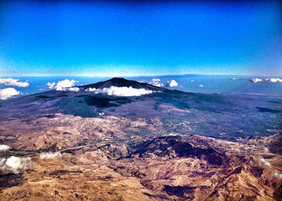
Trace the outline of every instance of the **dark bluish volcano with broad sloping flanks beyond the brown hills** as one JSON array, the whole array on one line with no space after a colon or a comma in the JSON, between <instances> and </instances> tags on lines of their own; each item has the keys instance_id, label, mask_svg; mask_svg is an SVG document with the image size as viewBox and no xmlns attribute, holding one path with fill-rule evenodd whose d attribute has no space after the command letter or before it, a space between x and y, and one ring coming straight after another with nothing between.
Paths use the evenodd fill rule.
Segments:
<instances>
[{"instance_id":1,"label":"dark bluish volcano with broad sloping flanks beyond the brown hills","mask_svg":"<svg viewBox=\"0 0 282 201\"><path fill-rule=\"evenodd\" d=\"M104 93L111 87L132 87L149 93L139 96ZM250 125L263 135L273 134L272 130L280 129L282 125L282 118L276 118L282 114L276 112L282 111L277 107L281 99L275 96L189 93L124 78L83 85L79 89L50 90L1 101L0 120L18 116L54 116L56 113L82 118L101 114L132 120L158 118L166 133L202 133L230 140L255 135ZM243 116L244 120L238 116Z\"/></svg>"}]
</instances>

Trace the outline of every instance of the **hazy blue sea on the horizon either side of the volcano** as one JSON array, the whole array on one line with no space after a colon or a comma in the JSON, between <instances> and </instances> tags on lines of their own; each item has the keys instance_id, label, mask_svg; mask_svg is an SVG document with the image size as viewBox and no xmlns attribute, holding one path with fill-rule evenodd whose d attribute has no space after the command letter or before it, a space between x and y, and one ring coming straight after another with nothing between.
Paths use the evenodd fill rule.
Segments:
<instances>
[{"instance_id":1,"label":"hazy blue sea on the horizon either side of the volcano","mask_svg":"<svg viewBox=\"0 0 282 201\"><path fill-rule=\"evenodd\" d=\"M110 78L98 77L0 77L14 78L21 82L26 80L30 83L29 87L15 87L0 84L0 89L13 87L24 95L35 94L49 90L47 83L57 83L60 80L77 80L76 85L88 85L99 81L108 80ZM145 83L164 85L171 90L182 90L185 92L199 93L247 93L247 94L263 94L263 95L281 95L282 83L257 82L253 83L250 80L253 78L266 79L276 77L258 77L258 76L243 76L243 75L164 75L164 76L143 76L143 77L123 77L129 80L136 80ZM278 77L281 78L281 77ZM153 83L154 79L154 83ZM157 80L156 80L157 79ZM168 81L176 80L178 86L169 87Z\"/></svg>"}]
</instances>

